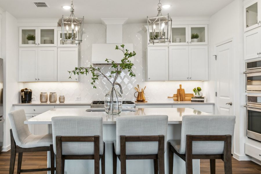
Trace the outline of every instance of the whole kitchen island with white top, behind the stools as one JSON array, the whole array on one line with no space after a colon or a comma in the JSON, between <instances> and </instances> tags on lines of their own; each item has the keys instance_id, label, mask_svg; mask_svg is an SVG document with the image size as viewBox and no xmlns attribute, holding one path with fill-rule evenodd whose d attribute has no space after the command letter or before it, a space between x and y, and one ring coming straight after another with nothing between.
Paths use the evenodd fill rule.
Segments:
<instances>
[{"instance_id":1,"label":"whole kitchen island with white top, behind the stools","mask_svg":"<svg viewBox=\"0 0 261 174\"><path fill-rule=\"evenodd\" d=\"M86 108L54 108L42 114L26 120L25 124L48 124L49 133L52 132L51 119L55 116L90 116L103 117L103 140L105 142L105 170L107 174L112 174L112 142L116 139L116 117L132 115L168 115L168 133L167 140L180 139L181 123L183 115L208 115L191 108L136 108L122 111L120 115L107 115L105 112L97 109ZM48 155L49 157L49 155ZM49 158L48 158L49 159ZM49 163L49 162L48 162ZM118 160L118 164L119 160ZM152 174L153 160L127 160L127 173L130 174ZM165 173L168 173L167 151L165 153ZM193 173L199 174L199 160L193 160ZM94 173L93 160L66 160L65 174L70 173ZM117 173L120 173L120 165L117 165ZM174 173L185 174L185 162L174 155Z\"/></svg>"}]
</instances>

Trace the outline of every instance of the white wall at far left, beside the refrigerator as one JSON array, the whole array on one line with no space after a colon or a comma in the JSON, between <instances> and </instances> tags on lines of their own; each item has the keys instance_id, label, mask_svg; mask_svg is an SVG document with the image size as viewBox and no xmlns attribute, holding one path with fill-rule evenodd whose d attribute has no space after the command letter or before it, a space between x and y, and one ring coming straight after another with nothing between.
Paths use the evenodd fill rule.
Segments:
<instances>
[{"instance_id":1,"label":"white wall at far left, beside the refrigerator","mask_svg":"<svg viewBox=\"0 0 261 174\"><path fill-rule=\"evenodd\" d=\"M1 20L1 58L4 64L4 91L3 91L3 115L4 115L4 142L3 151L10 148L10 121L8 113L12 111L12 104L19 102L19 90L22 83L17 83L18 70L18 28L17 19L10 13L3 12Z\"/></svg>"}]
</instances>

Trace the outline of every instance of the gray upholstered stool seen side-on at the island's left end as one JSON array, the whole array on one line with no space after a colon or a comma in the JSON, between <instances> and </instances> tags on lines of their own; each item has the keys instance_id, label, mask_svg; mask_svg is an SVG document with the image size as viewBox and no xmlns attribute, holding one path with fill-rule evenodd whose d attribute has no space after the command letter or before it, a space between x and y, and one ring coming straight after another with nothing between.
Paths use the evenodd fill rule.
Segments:
<instances>
[{"instance_id":1,"label":"gray upholstered stool seen side-on at the island's left end","mask_svg":"<svg viewBox=\"0 0 261 174\"><path fill-rule=\"evenodd\" d=\"M52 147L52 134L33 135L30 133L28 125L24 124L24 121L26 121L26 115L23 109L10 112L9 118L12 126L12 129L10 129L11 157L9 174L14 173L16 153L18 153L17 173L51 171L51 173L54 174L55 155ZM39 151L50 151L51 167L40 169L21 169L23 152Z\"/></svg>"}]
</instances>

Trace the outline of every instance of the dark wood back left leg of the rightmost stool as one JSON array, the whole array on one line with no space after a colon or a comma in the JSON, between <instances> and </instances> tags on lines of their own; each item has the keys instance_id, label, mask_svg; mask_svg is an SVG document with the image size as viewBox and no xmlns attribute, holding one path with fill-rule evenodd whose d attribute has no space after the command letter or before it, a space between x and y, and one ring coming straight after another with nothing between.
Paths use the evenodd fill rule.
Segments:
<instances>
[{"instance_id":1,"label":"dark wood back left leg of the rightmost stool","mask_svg":"<svg viewBox=\"0 0 261 174\"><path fill-rule=\"evenodd\" d=\"M186 174L193 174L192 167L192 135L186 136Z\"/></svg>"}]
</instances>

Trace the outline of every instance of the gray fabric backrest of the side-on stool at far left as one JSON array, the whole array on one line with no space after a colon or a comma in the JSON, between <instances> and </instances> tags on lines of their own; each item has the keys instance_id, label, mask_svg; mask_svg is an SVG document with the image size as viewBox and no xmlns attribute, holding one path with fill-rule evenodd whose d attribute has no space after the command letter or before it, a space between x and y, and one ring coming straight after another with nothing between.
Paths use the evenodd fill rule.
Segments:
<instances>
[{"instance_id":1,"label":"gray fabric backrest of the side-on stool at far left","mask_svg":"<svg viewBox=\"0 0 261 174\"><path fill-rule=\"evenodd\" d=\"M24 124L24 121L26 121L24 110L19 109L10 112L9 119L12 127L14 141L17 146L22 146L21 142L32 134L29 131L28 124Z\"/></svg>"}]
</instances>

